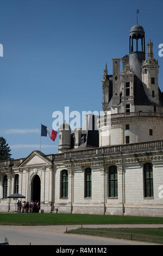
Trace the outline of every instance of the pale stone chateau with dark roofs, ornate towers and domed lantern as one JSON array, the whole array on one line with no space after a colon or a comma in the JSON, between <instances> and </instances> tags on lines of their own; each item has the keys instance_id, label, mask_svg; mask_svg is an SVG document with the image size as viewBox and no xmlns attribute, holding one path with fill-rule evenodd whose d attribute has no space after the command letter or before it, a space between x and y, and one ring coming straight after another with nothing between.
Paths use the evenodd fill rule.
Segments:
<instances>
[{"instance_id":1,"label":"pale stone chateau with dark roofs, ornate towers and domed lantern","mask_svg":"<svg viewBox=\"0 0 163 256\"><path fill-rule=\"evenodd\" d=\"M18 192L42 212L163 216L163 94L151 40L147 48L133 26L129 54L112 59L111 75L105 65L104 115L86 115L73 133L62 124L59 154L0 161L1 212L15 210L7 197Z\"/></svg>"}]
</instances>

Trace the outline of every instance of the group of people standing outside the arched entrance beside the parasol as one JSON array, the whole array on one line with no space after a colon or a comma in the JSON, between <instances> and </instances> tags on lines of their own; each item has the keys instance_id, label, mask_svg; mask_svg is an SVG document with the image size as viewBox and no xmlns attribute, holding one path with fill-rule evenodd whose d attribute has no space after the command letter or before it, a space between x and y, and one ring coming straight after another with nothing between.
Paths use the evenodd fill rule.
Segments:
<instances>
[{"instance_id":1,"label":"group of people standing outside the arched entrance beside the parasol","mask_svg":"<svg viewBox=\"0 0 163 256\"><path fill-rule=\"evenodd\" d=\"M31 201L31 202L25 202L18 200L17 202L17 212L29 212L31 214L32 212L39 212L40 210L40 202L39 201Z\"/></svg>"}]
</instances>

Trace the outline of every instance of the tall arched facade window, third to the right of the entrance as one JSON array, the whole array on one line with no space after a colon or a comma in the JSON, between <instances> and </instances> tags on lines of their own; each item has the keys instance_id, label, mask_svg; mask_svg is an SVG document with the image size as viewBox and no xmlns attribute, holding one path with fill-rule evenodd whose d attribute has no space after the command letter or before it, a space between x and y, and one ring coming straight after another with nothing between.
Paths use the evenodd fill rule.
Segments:
<instances>
[{"instance_id":1,"label":"tall arched facade window, third to the right of the entrance","mask_svg":"<svg viewBox=\"0 0 163 256\"><path fill-rule=\"evenodd\" d=\"M109 167L109 197L118 196L117 167Z\"/></svg>"}]
</instances>

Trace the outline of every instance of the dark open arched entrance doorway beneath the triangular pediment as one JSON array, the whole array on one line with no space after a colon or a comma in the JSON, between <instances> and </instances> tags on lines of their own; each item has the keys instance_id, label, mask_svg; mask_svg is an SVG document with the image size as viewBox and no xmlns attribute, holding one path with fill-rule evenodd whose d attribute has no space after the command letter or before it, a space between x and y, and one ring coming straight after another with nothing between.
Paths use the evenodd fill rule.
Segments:
<instances>
[{"instance_id":1,"label":"dark open arched entrance doorway beneath the triangular pediment","mask_svg":"<svg viewBox=\"0 0 163 256\"><path fill-rule=\"evenodd\" d=\"M40 194L41 194L41 180L39 175L35 175L32 182L32 200L33 202L40 202Z\"/></svg>"}]
</instances>

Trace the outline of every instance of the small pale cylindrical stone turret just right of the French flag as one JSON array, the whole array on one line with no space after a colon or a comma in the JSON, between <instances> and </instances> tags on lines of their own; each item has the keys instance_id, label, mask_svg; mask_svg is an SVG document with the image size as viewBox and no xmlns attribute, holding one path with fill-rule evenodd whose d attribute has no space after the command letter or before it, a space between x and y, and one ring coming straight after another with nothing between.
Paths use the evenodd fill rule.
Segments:
<instances>
[{"instance_id":1,"label":"small pale cylindrical stone turret just right of the French flag","mask_svg":"<svg viewBox=\"0 0 163 256\"><path fill-rule=\"evenodd\" d=\"M59 153L63 153L71 149L71 128L70 125L61 124L59 127Z\"/></svg>"}]
</instances>

